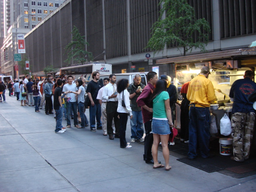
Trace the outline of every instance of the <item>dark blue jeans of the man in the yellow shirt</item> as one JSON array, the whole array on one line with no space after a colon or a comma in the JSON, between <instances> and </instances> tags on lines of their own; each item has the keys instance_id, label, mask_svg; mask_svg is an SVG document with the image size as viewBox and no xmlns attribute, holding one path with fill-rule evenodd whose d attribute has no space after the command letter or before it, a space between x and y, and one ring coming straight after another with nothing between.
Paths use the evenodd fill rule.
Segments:
<instances>
[{"instance_id":1,"label":"dark blue jeans of the man in the yellow shirt","mask_svg":"<svg viewBox=\"0 0 256 192\"><path fill-rule=\"evenodd\" d=\"M209 108L190 106L188 157L196 157L197 143L203 158L209 156L211 116Z\"/></svg>"}]
</instances>

